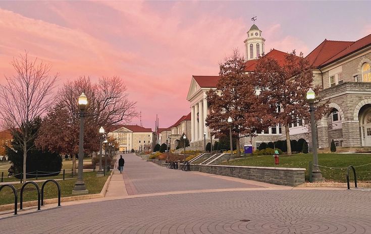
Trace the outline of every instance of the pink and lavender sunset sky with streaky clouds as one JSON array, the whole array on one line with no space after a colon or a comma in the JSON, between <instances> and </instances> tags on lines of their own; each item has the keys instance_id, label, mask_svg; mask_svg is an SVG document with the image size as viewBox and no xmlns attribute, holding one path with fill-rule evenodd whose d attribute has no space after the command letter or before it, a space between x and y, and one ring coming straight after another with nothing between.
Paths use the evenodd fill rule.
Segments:
<instances>
[{"instance_id":1,"label":"pink and lavender sunset sky with streaky clouds","mask_svg":"<svg viewBox=\"0 0 371 234\"><path fill-rule=\"evenodd\" d=\"M190 112L192 75L217 75L233 48L243 51L251 17L270 48L308 54L325 38L371 33L371 2L0 2L0 82L24 53L59 73L120 76L143 127L169 127ZM139 124L135 119L132 124Z\"/></svg>"}]
</instances>

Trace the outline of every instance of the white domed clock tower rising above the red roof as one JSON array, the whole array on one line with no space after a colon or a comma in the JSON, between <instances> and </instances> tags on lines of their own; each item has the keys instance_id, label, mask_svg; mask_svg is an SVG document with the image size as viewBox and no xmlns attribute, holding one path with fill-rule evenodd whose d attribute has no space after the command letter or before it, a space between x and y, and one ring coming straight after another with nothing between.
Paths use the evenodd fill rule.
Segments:
<instances>
[{"instance_id":1,"label":"white domed clock tower rising above the red roof","mask_svg":"<svg viewBox=\"0 0 371 234\"><path fill-rule=\"evenodd\" d=\"M256 19L256 18L255 18ZM261 30L254 24L250 30L247 31L247 38L243 42L245 43L246 60L256 60L259 56L264 54L264 39L261 36Z\"/></svg>"}]
</instances>

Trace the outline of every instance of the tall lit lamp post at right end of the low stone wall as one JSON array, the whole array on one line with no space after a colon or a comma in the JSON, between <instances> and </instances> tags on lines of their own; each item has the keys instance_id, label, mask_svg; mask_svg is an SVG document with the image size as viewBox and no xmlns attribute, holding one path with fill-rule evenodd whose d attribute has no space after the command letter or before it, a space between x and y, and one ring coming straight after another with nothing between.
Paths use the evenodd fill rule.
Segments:
<instances>
[{"instance_id":1,"label":"tall lit lamp post at right end of the low stone wall","mask_svg":"<svg viewBox=\"0 0 371 234\"><path fill-rule=\"evenodd\" d=\"M313 169L312 169L312 181L320 182L324 181L325 178L322 177L320 168L318 167L318 154L317 154L317 134L315 129L315 119L314 119L314 99L315 93L312 88L309 88L306 93L306 99L309 103L309 112L310 112L310 127L312 135L312 151L313 151Z\"/></svg>"}]
</instances>

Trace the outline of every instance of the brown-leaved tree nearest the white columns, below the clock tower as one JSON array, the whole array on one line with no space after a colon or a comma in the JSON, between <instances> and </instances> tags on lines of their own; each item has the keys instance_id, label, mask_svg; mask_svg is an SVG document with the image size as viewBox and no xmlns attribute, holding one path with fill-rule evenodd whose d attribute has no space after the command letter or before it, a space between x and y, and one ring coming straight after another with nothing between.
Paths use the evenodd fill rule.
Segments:
<instances>
[{"instance_id":1,"label":"brown-leaved tree nearest the white columns, below the clock tower","mask_svg":"<svg viewBox=\"0 0 371 234\"><path fill-rule=\"evenodd\" d=\"M213 130L217 138L229 136L232 126L237 157L240 156L239 136L254 136L264 125L264 111L261 111L254 86L247 78L244 59L238 50L234 50L220 65L217 89L207 92L210 113L206 126ZM233 120L231 125L227 123L229 116Z\"/></svg>"}]
</instances>

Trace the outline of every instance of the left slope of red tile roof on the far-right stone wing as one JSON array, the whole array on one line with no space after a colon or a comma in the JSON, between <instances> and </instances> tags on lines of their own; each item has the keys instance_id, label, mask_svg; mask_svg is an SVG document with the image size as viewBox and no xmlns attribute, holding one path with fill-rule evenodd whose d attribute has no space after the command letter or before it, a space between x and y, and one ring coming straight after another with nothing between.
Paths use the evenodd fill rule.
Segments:
<instances>
[{"instance_id":1,"label":"left slope of red tile roof on the far-right stone wing","mask_svg":"<svg viewBox=\"0 0 371 234\"><path fill-rule=\"evenodd\" d=\"M325 39L306 56L306 59L310 66L319 67L353 43L354 41L331 41Z\"/></svg>"}]
</instances>

